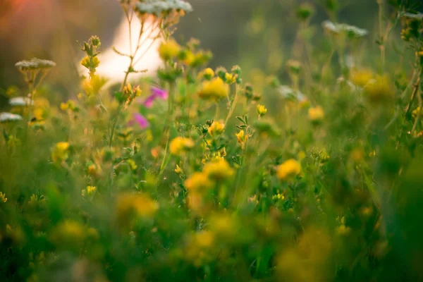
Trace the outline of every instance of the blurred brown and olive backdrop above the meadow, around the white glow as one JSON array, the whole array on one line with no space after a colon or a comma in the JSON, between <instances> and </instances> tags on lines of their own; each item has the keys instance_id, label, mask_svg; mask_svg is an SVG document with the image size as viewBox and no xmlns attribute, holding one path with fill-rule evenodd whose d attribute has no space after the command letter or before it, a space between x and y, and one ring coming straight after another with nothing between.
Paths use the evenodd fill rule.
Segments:
<instances>
[{"instance_id":1,"label":"blurred brown and olive backdrop above the meadow, around the white glow","mask_svg":"<svg viewBox=\"0 0 423 282\"><path fill-rule=\"evenodd\" d=\"M321 22L328 15L321 6L323 1L328 0L190 0L195 12L181 20L174 36L180 42L200 39L202 47L214 53L212 67L239 64L244 73L261 69L266 75L280 76L292 56L298 30L295 9L300 4L308 2L316 8L309 32L317 48L324 47ZM369 30L366 47L378 51L374 44L376 0L338 2L338 22ZM98 35L105 51L116 42L123 23L118 0L1 0L0 6L0 92L10 85L23 87L14 64L36 56L58 63L49 81L61 95L74 96L82 59L76 41ZM387 3L385 6L388 8ZM146 57L151 56L154 54ZM155 64L152 69L157 68ZM5 98L0 99L1 106Z\"/></svg>"}]
</instances>

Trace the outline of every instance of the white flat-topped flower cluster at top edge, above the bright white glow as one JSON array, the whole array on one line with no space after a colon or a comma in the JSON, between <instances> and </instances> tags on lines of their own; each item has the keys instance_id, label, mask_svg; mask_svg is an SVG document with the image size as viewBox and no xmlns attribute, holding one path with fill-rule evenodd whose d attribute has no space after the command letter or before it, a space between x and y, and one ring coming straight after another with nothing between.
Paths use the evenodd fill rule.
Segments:
<instances>
[{"instance_id":1,"label":"white flat-topped flower cluster at top edge, above the bright white glow","mask_svg":"<svg viewBox=\"0 0 423 282\"><path fill-rule=\"evenodd\" d=\"M137 11L152 15L160 15L170 11L191 12L192 6L183 0L143 0L137 3Z\"/></svg>"}]
</instances>

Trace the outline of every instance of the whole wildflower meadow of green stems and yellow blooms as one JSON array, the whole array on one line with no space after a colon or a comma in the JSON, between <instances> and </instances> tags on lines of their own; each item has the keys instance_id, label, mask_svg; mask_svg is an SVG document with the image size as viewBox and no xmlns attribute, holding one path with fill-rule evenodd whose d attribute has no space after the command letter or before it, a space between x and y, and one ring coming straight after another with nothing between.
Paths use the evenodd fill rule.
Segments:
<instances>
[{"instance_id":1,"label":"whole wildflower meadow of green stems and yellow blooms","mask_svg":"<svg viewBox=\"0 0 423 282\"><path fill-rule=\"evenodd\" d=\"M114 92L100 39L81 44L90 75L60 104L40 85L55 63L18 63L30 95L11 87L0 115L2 281L421 280L423 20L389 3L368 61L340 1L321 1L324 48L300 5L280 77L207 68L200 42L171 37L191 11L175 0L121 1L140 38L159 30L161 68L140 85L140 42L115 49L130 63ZM399 24L407 49L386 58Z\"/></svg>"}]
</instances>

